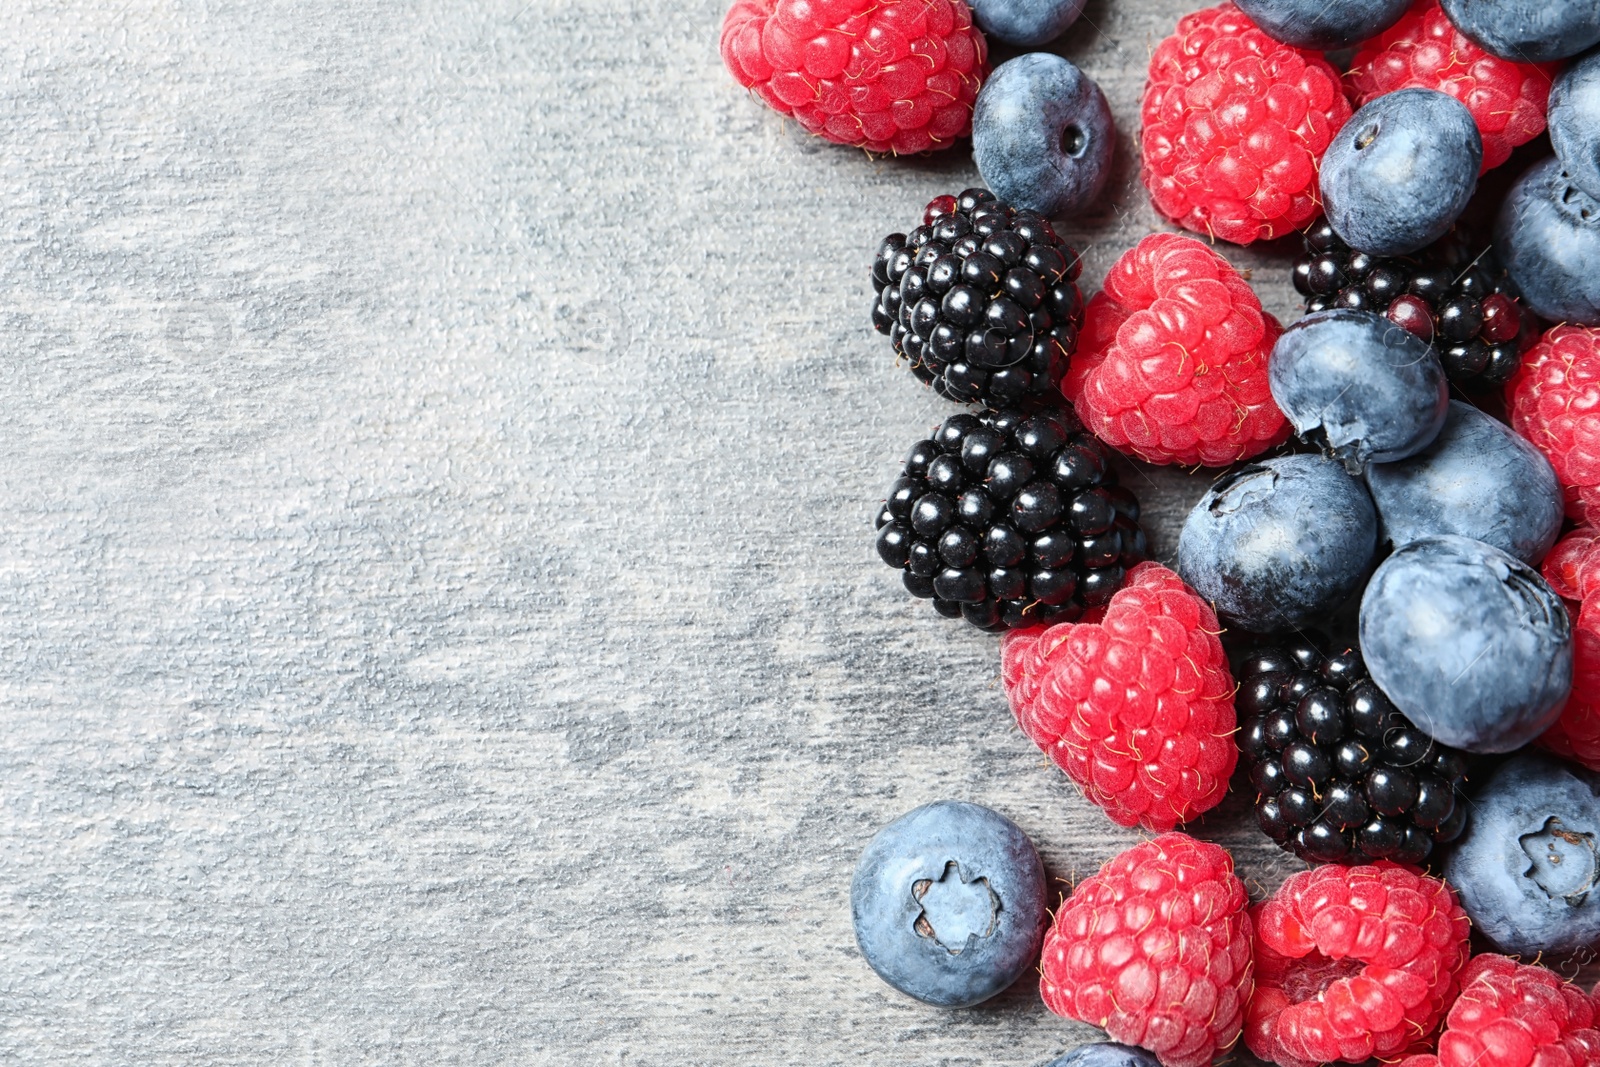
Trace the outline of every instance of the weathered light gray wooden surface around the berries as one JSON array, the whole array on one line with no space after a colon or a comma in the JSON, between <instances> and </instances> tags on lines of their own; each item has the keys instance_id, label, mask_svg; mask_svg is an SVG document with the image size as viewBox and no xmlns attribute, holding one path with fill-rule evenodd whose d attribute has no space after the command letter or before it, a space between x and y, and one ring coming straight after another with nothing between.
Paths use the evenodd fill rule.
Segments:
<instances>
[{"instance_id":1,"label":"weathered light gray wooden surface around the berries","mask_svg":"<svg viewBox=\"0 0 1600 1067\"><path fill-rule=\"evenodd\" d=\"M1195 0L1061 45L1128 134ZM8 0L0 1061L1040 1064L850 933L875 827L1138 838L875 561L946 414L878 238L976 181L763 110L720 0ZM1288 254L1227 250L1293 312ZM1130 474L1170 553L1205 478ZM1232 798L1198 832L1296 864ZM1061 883L1062 886L1066 881Z\"/></svg>"}]
</instances>

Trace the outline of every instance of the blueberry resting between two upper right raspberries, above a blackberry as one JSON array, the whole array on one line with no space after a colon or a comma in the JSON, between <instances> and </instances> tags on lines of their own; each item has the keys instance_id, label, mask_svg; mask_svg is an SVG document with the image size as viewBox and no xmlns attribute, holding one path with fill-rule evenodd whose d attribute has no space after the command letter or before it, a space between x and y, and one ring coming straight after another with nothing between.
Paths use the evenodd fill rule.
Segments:
<instances>
[{"instance_id":1,"label":"blueberry resting between two upper right raspberries, above a blackberry","mask_svg":"<svg viewBox=\"0 0 1600 1067\"><path fill-rule=\"evenodd\" d=\"M1478 187L1483 136L1466 104L1434 90L1386 93L1322 157L1322 200L1344 243L1403 256L1450 232Z\"/></svg>"}]
</instances>

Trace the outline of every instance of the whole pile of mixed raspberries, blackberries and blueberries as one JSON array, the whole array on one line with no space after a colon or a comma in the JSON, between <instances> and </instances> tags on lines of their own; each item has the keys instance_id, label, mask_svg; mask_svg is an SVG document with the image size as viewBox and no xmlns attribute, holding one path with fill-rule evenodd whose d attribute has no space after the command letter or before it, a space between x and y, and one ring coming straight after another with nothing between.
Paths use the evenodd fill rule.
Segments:
<instances>
[{"instance_id":1,"label":"whole pile of mixed raspberries, blackberries and blueberries","mask_svg":"<svg viewBox=\"0 0 1600 1067\"><path fill-rule=\"evenodd\" d=\"M1029 51L1082 11L738 0L723 24L739 83L829 141L970 138L987 187L907 211L870 267L894 362L960 405L877 552L1002 635L1021 731L1155 835L1058 899L1014 822L923 805L861 856L861 953L952 1008L1037 966L1110 1038L1053 1067L1240 1040L1280 1067L1600 1067L1600 990L1542 966L1600 949L1600 3L1184 16L1138 147L1189 234L1086 301L1058 227L1115 125ZM1022 54L990 70L990 40ZM1288 325L1219 245L1278 238ZM1165 563L1118 480L1141 462L1213 472ZM1230 789L1306 864L1254 902L1178 829Z\"/></svg>"}]
</instances>

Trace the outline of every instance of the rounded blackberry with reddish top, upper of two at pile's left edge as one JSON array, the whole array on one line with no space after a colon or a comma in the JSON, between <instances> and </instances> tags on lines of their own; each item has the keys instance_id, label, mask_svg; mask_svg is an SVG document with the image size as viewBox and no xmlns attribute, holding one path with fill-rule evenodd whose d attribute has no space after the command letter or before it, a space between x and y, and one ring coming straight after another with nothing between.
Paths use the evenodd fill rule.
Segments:
<instances>
[{"instance_id":1,"label":"rounded blackberry with reddish top, upper of two at pile's left edge","mask_svg":"<svg viewBox=\"0 0 1600 1067\"><path fill-rule=\"evenodd\" d=\"M968 189L883 238L872 325L946 400L1016 406L1061 384L1083 322L1078 272L1048 219Z\"/></svg>"}]
</instances>

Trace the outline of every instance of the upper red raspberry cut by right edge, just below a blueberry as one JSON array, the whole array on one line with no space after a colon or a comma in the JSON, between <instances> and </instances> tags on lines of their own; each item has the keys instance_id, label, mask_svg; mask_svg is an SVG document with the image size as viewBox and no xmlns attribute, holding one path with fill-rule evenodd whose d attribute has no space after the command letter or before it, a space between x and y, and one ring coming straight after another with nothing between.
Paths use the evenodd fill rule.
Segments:
<instances>
[{"instance_id":1,"label":"upper red raspberry cut by right edge, just below a blueberry","mask_svg":"<svg viewBox=\"0 0 1600 1067\"><path fill-rule=\"evenodd\" d=\"M1600 525L1600 330L1555 326L1506 387L1510 424L1544 453L1566 514Z\"/></svg>"}]
</instances>

